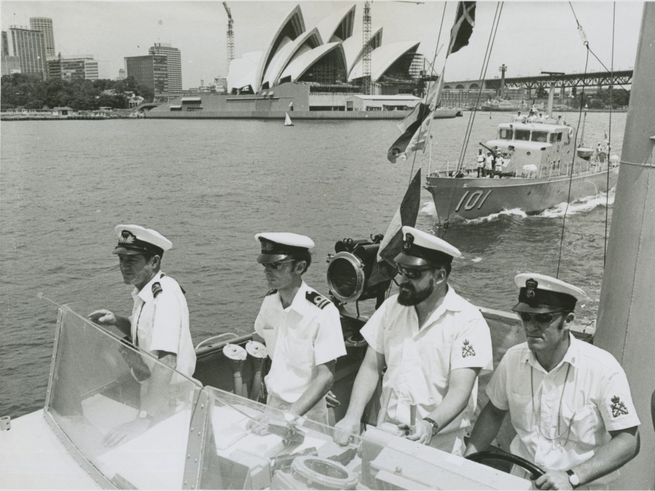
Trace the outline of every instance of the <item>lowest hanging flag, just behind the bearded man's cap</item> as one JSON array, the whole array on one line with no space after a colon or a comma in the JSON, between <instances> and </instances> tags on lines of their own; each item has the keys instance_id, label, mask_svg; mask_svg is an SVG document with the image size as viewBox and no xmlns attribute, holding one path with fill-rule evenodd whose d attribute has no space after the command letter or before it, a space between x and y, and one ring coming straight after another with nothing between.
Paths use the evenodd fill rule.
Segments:
<instances>
[{"instance_id":1,"label":"lowest hanging flag, just behind the bearded man's cap","mask_svg":"<svg viewBox=\"0 0 655 491\"><path fill-rule=\"evenodd\" d=\"M411 180L405 196L400 203L400 208L392 218L385 238L380 242L380 250L377 252L377 263L368 280L368 285L376 285L396 276L396 264L394 258L402 250L402 227L416 225L418 207L421 204L421 169L418 169Z\"/></svg>"}]
</instances>

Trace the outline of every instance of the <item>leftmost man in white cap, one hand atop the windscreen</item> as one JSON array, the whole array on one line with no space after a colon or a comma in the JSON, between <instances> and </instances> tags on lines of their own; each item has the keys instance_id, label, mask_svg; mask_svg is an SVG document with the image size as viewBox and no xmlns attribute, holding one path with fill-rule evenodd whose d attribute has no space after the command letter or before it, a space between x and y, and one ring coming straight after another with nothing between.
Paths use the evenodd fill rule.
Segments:
<instances>
[{"instance_id":1,"label":"leftmost man in white cap, one hand atop the windscreen","mask_svg":"<svg viewBox=\"0 0 655 491\"><path fill-rule=\"evenodd\" d=\"M166 366L189 378L195 370L184 292L177 281L161 271L164 251L173 244L159 232L139 225L118 225L115 232L118 245L113 254L118 255L123 281L134 286L132 315L120 317L102 309L91 312L89 319L101 325L115 325L127 337L128 345L152 354L165 366L131 349L122 350L132 376L141 383L140 410L134 421L109 431L103 441L107 446L142 433L153 419L170 414L171 405L178 402L176 388L186 379L173 377L173 371Z\"/></svg>"}]
</instances>

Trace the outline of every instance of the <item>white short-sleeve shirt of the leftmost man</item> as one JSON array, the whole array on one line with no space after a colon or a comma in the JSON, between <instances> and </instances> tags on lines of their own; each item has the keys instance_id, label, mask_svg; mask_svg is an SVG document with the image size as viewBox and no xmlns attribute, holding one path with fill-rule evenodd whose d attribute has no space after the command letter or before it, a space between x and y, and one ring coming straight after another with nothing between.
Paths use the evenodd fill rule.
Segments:
<instances>
[{"instance_id":1,"label":"white short-sleeve shirt of the leftmost man","mask_svg":"<svg viewBox=\"0 0 655 491\"><path fill-rule=\"evenodd\" d=\"M153 286L159 283L156 297ZM156 351L169 351L177 356L176 370L191 377L195 371L195 350L189 330L186 298L170 276L159 271L140 291L132 290L132 340L136 346L157 356ZM150 368L154 362L144 359ZM183 378L173 380L181 382Z\"/></svg>"}]
</instances>

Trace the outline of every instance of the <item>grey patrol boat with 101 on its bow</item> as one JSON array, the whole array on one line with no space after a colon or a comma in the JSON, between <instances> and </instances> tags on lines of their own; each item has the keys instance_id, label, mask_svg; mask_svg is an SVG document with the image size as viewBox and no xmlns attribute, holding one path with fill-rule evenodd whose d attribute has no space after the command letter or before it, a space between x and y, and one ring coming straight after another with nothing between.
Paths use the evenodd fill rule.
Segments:
<instances>
[{"instance_id":1,"label":"grey patrol boat with 101 on its bow","mask_svg":"<svg viewBox=\"0 0 655 491\"><path fill-rule=\"evenodd\" d=\"M547 114L552 114L554 85ZM501 123L494 140L480 144L508 159L495 179L455 170L426 177L439 222L480 218L519 208L540 213L559 203L603 193L615 186L616 162L597 164L576 155L576 131L548 118L545 123Z\"/></svg>"}]
</instances>

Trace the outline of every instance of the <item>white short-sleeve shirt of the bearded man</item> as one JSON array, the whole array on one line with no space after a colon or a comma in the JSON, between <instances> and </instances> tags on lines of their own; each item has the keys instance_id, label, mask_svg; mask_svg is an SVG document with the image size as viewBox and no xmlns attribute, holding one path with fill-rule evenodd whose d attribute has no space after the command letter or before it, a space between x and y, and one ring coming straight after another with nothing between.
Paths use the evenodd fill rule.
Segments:
<instances>
[{"instance_id":1,"label":"white short-sleeve shirt of the bearded man","mask_svg":"<svg viewBox=\"0 0 655 491\"><path fill-rule=\"evenodd\" d=\"M385 355L380 400L389 397L387 420L409 424L410 405L416 405L416 419L438 407L448 393L450 371L482 368L482 375L492 370L491 334L477 307L451 286L421 329L414 307L400 305L397 296L388 298L361 332L372 349ZM461 450L454 448L461 446L455 439L472 423L476 399L477 379L466 409L433 437L431 446L451 453Z\"/></svg>"}]
</instances>

